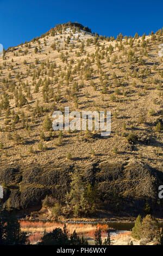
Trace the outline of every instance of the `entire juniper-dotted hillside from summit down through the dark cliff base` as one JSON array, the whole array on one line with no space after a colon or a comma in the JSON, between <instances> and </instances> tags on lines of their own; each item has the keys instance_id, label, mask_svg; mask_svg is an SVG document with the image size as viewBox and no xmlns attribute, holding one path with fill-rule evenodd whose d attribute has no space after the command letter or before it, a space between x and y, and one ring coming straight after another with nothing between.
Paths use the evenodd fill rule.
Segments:
<instances>
[{"instance_id":1,"label":"entire juniper-dotted hillside from summit down through the dark cliff base","mask_svg":"<svg viewBox=\"0 0 163 256\"><path fill-rule=\"evenodd\" d=\"M147 208L156 214L162 209L162 42L161 29L114 39L66 23L3 52L2 203L26 209L40 206L48 195L49 207L60 204L64 216L96 211L136 215ZM53 131L52 114L65 106L79 112L111 111L111 135ZM66 203L73 184L96 187L95 211L89 203L72 203L71 195Z\"/></svg>"}]
</instances>

